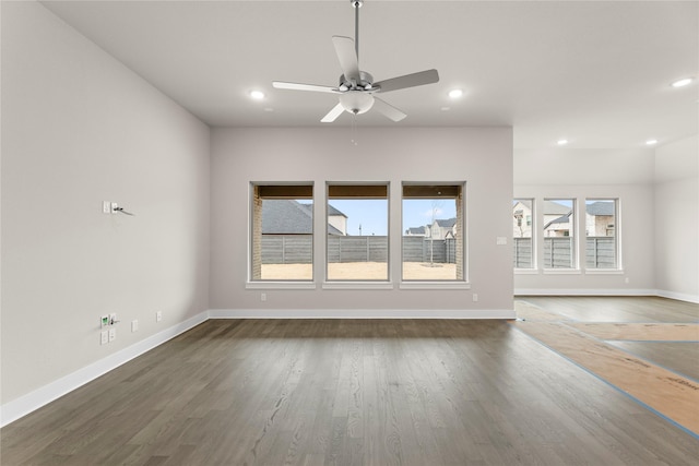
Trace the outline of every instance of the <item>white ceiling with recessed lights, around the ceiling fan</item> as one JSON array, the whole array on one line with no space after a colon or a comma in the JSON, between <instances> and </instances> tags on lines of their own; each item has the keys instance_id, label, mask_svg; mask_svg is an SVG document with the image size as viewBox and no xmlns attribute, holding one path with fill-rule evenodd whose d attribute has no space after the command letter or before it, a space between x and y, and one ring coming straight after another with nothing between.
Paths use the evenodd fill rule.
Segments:
<instances>
[{"instance_id":1,"label":"white ceiling with recessed lights, around the ceiling fan","mask_svg":"<svg viewBox=\"0 0 699 466\"><path fill-rule=\"evenodd\" d=\"M271 82L336 85L331 36L354 36L350 0L43 3L210 126L327 124L334 95ZM359 25L359 65L376 81L430 68L441 79L381 96L403 121L369 112L360 126L512 126L528 148L698 132L699 85L670 85L699 77L697 1L366 0ZM455 101L454 87L465 92Z\"/></svg>"}]
</instances>

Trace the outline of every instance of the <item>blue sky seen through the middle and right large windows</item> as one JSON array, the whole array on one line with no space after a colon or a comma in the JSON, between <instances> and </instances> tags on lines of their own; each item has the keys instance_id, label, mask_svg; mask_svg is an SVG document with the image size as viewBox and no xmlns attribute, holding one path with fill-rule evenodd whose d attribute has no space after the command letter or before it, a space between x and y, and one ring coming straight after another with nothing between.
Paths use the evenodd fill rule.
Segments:
<instances>
[{"instance_id":1,"label":"blue sky seen through the middle and right large windows","mask_svg":"<svg viewBox=\"0 0 699 466\"><path fill-rule=\"evenodd\" d=\"M388 235L387 200L339 200L333 199L330 205L347 216L347 235ZM435 216L433 217L433 210ZM402 231L411 227L420 227L435 219L447 219L457 216L454 200L405 200L403 201Z\"/></svg>"}]
</instances>

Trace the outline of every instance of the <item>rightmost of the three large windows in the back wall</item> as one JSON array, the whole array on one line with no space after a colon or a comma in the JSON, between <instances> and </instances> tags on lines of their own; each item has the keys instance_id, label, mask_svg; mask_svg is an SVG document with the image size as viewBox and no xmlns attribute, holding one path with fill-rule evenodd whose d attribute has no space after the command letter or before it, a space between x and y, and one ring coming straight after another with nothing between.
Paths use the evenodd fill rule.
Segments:
<instances>
[{"instance_id":1,"label":"rightmost of the three large windows in the back wall","mask_svg":"<svg viewBox=\"0 0 699 466\"><path fill-rule=\"evenodd\" d=\"M463 280L463 183L403 184L403 280Z\"/></svg>"}]
</instances>

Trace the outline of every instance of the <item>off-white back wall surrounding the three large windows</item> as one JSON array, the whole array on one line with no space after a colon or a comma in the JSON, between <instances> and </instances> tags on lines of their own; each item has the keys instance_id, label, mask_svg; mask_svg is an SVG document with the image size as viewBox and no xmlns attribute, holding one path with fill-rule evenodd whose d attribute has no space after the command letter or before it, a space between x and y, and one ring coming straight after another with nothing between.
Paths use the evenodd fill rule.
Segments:
<instances>
[{"instance_id":1,"label":"off-white back wall surrounding the three large windows","mask_svg":"<svg viewBox=\"0 0 699 466\"><path fill-rule=\"evenodd\" d=\"M359 145L350 128L216 129L212 135L211 307L220 310L315 310L334 315L357 310L479 310L484 315L512 311L511 236L512 133L509 128L360 128ZM400 289L401 182L462 181L466 184L470 290ZM389 181L391 289L246 289L248 276L249 183L312 181L316 231L324 231L327 181ZM322 238L315 255L323 263ZM473 302L472 294L478 295ZM408 312L410 313L410 312ZM289 312L288 315L297 313ZM368 313L371 314L370 312ZM377 313L381 314L381 313ZM501 315L501 314L500 314Z\"/></svg>"}]
</instances>

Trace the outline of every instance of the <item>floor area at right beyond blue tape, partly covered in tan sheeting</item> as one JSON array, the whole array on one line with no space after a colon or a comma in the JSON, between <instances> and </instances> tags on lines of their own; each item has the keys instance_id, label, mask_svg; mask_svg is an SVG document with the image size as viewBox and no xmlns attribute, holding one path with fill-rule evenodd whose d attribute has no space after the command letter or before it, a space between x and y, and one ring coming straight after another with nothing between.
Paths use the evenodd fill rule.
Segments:
<instances>
[{"instance_id":1,"label":"floor area at right beyond blue tape, partly covered in tan sheeting","mask_svg":"<svg viewBox=\"0 0 699 466\"><path fill-rule=\"evenodd\" d=\"M654 308L672 301L649 298L643 301L647 306L639 308L627 306L635 303L632 298L621 301L618 298L550 298L545 301L548 310L529 301L516 301L518 321L513 325L699 438L699 382L694 378L699 372L696 357L699 323L653 322L657 319L691 321L696 304L677 303L679 312L660 314ZM618 306L619 302L624 306ZM595 306L581 312L580 308L590 303ZM597 308L608 310L609 303L616 306L612 307L613 312L605 312L602 323L574 322L571 318L597 318ZM557 309L560 314L550 309ZM631 318L633 322L612 323L614 318ZM639 319L649 322L637 322ZM648 343L667 342L683 343L674 346L677 361L668 358L667 346L654 349L648 346ZM629 346L630 343L636 346ZM635 348L636 354L629 348ZM666 365L653 359L664 359Z\"/></svg>"}]
</instances>

